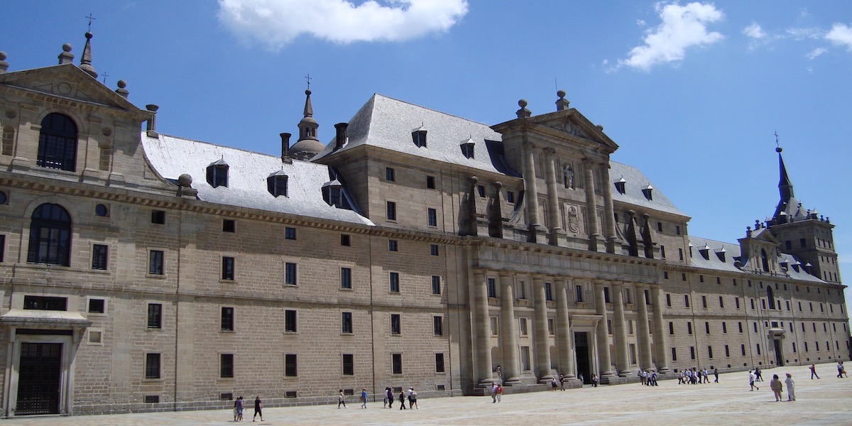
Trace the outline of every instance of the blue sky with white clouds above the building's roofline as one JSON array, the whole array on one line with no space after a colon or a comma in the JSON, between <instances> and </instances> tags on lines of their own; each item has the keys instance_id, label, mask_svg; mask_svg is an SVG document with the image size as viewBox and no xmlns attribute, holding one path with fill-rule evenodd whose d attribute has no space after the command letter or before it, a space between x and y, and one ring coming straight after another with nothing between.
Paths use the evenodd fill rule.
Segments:
<instances>
[{"instance_id":1,"label":"blue sky with white clouds above the building's roofline","mask_svg":"<svg viewBox=\"0 0 852 426\"><path fill-rule=\"evenodd\" d=\"M694 219L727 242L774 212L774 132L797 199L836 224L852 262L848 1L0 0L9 71L79 56L158 130L279 153L305 76L320 140L373 93L485 124L555 110L556 89ZM613 179L617 176L613 176ZM852 297L848 297L852 300Z\"/></svg>"}]
</instances>

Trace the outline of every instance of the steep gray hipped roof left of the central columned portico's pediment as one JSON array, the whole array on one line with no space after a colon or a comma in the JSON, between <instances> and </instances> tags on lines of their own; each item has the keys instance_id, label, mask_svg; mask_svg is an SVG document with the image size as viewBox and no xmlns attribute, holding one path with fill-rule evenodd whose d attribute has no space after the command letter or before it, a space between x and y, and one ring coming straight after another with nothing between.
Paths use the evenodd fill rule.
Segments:
<instances>
[{"instance_id":1,"label":"steep gray hipped roof left of the central columned portico's pediment","mask_svg":"<svg viewBox=\"0 0 852 426\"><path fill-rule=\"evenodd\" d=\"M426 130L426 147L417 147L412 141L412 131ZM459 118L446 112L397 101L383 95L372 95L349 120L348 142L338 151L360 145L382 147L397 153L406 153L442 163L459 164L477 170L486 170L509 176L520 176L509 170L502 160L502 152L489 152L486 141L502 141L502 135L486 124ZM466 158L463 143L473 140L474 158ZM490 143L492 148L501 144ZM331 141L315 158L332 153Z\"/></svg>"}]
</instances>

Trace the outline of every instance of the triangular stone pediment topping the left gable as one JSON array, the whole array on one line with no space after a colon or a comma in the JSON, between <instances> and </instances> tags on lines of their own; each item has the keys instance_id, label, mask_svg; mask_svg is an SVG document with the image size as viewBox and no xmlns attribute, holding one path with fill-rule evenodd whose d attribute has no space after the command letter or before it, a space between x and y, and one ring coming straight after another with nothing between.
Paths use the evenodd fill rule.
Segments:
<instances>
[{"instance_id":1,"label":"triangular stone pediment topping the left gable","mask_svg":"<svg viewBox=\"0 0 852 426\"><path fill-rule=\"evenodd\" d=\"M101 107L115 108L144 117L147 112L135 107L124 96L73 64L46 66L31 70L0 74L0 86L18 89L20 95L56 96Z\"/></svg>"}]
</instances>

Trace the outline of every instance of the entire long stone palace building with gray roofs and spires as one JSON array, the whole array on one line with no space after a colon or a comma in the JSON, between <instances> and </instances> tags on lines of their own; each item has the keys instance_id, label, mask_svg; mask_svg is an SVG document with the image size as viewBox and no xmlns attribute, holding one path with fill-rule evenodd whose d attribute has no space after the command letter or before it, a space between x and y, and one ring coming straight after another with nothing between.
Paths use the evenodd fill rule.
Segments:
<instances>
[{"instance_id":1,"label":"entire long stone palace building with gray roofs and spires","mask_svg":"<svg viewBox=\"0 0 852 426\"><path fill-rule=\"evenodd\" d=\"M308 90L276 156L159 133L90 38L0 53L4 417L849 360L834 225L780 149L773 215L725 243L563 92L492 126L373 95L321 143Z\"/></svg>"}]
</instances>

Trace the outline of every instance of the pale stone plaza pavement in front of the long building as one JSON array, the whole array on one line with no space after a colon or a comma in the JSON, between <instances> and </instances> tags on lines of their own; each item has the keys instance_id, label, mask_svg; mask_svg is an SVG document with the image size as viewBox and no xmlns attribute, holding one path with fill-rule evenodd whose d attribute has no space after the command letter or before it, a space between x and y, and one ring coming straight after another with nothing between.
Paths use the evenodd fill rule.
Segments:
<instances>
[{"instance_id":1,"label":"pale stone plaza pavement in front of the long building","mask_svg":"<svg viewBox=\"0 0 852 426\"><path fill-rule=\"evenodd\" d=\"M350 397L347 409L331 406L297 406L264 409L264 422L257 425L293 424L588 424L630 426L659 424L852 424L852 379L835 377L836 364L817 366L820 380L811 380L808 366L763 371L760 390L751 392L748 371L719 375L720 383L678 385L676 380L659 381L657 387L631 383L556 392L506 394L499 404L490 396L435 398L417 401L416 410L382 408L382 401L360 409ZM796 401L775 402L769 389L773 374L786 372L796 380ZM711 376L712 378L712 376ZM252 398L247 396L249 403ZM784 389L786 400L786 388ZM231 410L195 412L133 413L78 417L16 417L3 420L9 426L171 426L233 424ZM244 423L245 423L244 422Z\"/></svg>"}]
</instances>

